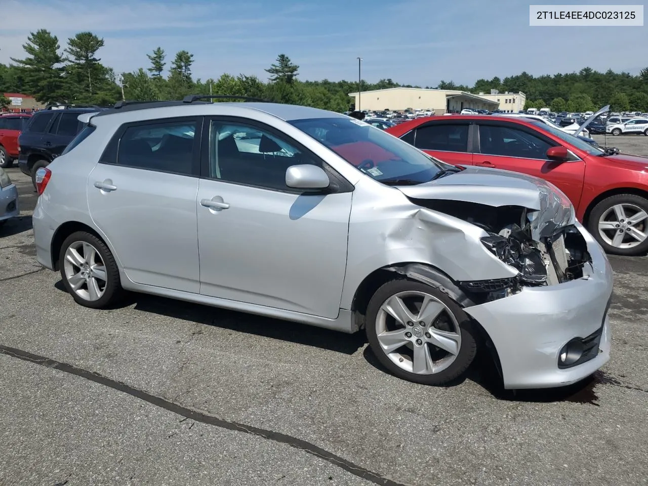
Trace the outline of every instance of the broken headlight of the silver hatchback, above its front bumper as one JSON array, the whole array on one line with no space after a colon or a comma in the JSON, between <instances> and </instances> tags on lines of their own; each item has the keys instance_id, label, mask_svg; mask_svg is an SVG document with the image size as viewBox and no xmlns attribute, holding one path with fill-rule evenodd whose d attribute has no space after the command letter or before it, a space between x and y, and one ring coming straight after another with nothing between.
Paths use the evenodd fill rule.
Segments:
<instances>
[{"instance_id":1,"label":"broken headlight of the silver hatchback, above its front bumper","mask_svg":"<svg viewBox=\"0 0 648 486\"><path fill-rule=\"evenodd\" d=\"M540 250L513 232L509 237L491 235L481 238L481 244L520 274L518 280L527 285L543 285L547 281L547 269Z\"/></svg>"}]
</instances>

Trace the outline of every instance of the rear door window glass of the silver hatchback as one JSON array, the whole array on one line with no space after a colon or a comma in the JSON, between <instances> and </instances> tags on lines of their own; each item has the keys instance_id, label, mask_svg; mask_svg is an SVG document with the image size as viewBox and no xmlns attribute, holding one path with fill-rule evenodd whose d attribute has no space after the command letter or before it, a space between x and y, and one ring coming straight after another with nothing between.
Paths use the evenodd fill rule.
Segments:
<instances>
[{"instance_id":1,"label":"rear door window glass of the silver hatchback","mask_svg":"<svg viewBox=\"0 0 648 486\"><path fill-rule=\"evenodd\" d=\"M130 126L119 140L117 165L191 175L196 122Z\"/></svg>"}]
</instances>

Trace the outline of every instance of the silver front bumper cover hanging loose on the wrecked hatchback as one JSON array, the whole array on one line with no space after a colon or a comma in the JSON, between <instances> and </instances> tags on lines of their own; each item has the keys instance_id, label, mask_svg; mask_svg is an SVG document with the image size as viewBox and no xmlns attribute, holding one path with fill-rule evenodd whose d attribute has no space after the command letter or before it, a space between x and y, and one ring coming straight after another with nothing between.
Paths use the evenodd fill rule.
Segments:
<instances>
[{"instance_id":1,"label":"silver front bumper cover hanging loose on the wrecked hatchback","mask_svg":"<svg viewBox=\"0 0 648 486\"><path fill-rule=\"evenodd\" d=\"M519 294L465 309L494 343L505 388L570 385L592 375L610 359L607 310L612 268L599 244L583 226L577 226L592 255L593 270L588 277L527 287ZM561 349L574 338L592 344L590 359L561 369Z\"/></svg>"}]
</instances>

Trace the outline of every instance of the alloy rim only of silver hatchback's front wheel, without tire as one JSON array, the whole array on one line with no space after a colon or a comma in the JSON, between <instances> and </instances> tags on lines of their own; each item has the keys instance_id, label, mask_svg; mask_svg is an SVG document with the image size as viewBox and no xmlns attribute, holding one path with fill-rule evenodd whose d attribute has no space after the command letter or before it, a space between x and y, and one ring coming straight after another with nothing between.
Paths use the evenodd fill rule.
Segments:
<instances>
[{"instance_id":1,"label":"alloy rim only of silver hatchback's front wheel, without tire","mask_svg":"<svg viewBox=\"0 0 648 486\"><path fill-rule=\"evenodd\" d=\"M400 369L434 375L454 362L461 330L450 309L433 295L408 290L392 295L376 316L383 353Z\"/></svg>"}]
</instances>

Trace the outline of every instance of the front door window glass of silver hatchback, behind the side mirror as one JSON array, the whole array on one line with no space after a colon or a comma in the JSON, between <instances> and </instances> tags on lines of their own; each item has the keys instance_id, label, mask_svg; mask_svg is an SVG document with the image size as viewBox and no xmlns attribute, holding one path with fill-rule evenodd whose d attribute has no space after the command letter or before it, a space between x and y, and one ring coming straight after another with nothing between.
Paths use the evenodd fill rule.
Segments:
<instances>
[{"instance_id":1,"label":"front door window glass of silver hatchback, behind the side mirror","mask_svg":"<svg viewBox=\"0 0 648 486\"><path fill-rule=\"evenodd\" d=\"M320 165L282 137L238 122L212 121L209 127L209 177L278 191L292 165Z\"/></svg>"}]
</instances>

